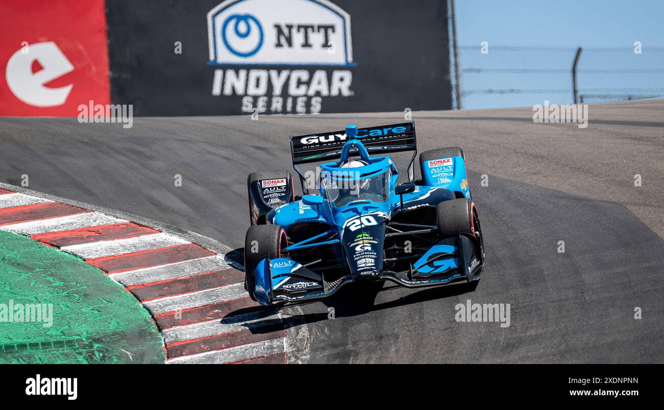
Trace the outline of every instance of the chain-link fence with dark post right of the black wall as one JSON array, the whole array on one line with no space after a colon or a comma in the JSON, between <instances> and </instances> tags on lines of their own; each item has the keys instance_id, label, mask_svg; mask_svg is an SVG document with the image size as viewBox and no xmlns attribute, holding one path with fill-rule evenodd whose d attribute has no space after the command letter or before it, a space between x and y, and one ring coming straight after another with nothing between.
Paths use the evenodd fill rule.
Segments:
<instances>
[{"instance_id":1,"label":"chain-link fence with dark post right of the black wall","mask_svg":"<svg viewBox=\"0 0 664 410\"><path fill-rule=\"evenodd\" d=\"M576 52L564 47L459 46L460 107L574 103ZM454 65L452 70L454 80ZM579 103L664 96L664 48L582 48L576 87ZM454 107L459 108L456 98Z\"/></svg>"}]
</instances>

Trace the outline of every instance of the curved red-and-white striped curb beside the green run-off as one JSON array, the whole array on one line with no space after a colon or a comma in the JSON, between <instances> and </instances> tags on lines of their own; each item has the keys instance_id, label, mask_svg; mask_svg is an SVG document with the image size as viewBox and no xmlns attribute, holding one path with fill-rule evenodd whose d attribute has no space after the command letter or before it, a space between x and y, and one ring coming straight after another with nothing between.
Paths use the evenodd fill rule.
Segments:
<instances>
[{"instance_id":1,"label":"curved red-and-white striped curb beside the green run-off","mask_svg":"<svg viewBox=\"0 0 664 410\"><path fill-rule=\"evenodd\" d=\"M167 363L286 363L282 316L249 298L244 273L223 254L103 212L4 189L0 229L72 253L123 285L151 312Z\"/></svg>"}]
</instances>

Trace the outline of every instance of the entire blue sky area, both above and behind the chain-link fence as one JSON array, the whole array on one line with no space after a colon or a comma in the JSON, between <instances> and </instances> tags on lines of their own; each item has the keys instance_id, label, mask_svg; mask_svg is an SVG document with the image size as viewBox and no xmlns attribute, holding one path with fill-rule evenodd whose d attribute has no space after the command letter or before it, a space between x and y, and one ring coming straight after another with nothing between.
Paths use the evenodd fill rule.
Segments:
<instances>
[{"instance_id":1,"label":"entire blue sky area, both above and behind the chain-link fence","mask_svg":"<svg viewBox=\"0 0 664 410\"><path fill-rule=\"evenodd\" d=\"M465 109L664 96L664 0L456 0ZM481 42L489 44L482 53ZM634 52L640 41L641 54ZM620 48L620 50L618 50Z\"/></svg>"}]
</instances>

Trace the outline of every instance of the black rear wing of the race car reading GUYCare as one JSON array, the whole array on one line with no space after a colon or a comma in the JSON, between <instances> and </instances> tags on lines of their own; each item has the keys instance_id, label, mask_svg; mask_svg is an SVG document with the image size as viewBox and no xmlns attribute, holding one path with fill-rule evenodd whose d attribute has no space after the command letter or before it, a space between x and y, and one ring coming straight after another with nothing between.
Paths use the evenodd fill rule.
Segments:
<instances>
[{"instance_id":1,"label":"black rear wing of the race car reading GUYCare","mask_svg":"<svg viewBox=\"0 0 664 410\"><path fill-rule=\"evenodd\" d=\"M390 125L376 125L357 129L358 141L372 154L397 153L402 151L414 151L408 165L408 178L413 180L413 161L417 155L417 139L415 135L415 122L398 123ZM290 137L291 157L293 168L300 176L302 190L309 193L305 188L305 176L297 165L307 163L323 163L341 158L343 145L349 141L346 131L331 131L309 135L295 135ZM351 155L357 154L357 148L352 147Z\"/></svg>"}]
</instances>

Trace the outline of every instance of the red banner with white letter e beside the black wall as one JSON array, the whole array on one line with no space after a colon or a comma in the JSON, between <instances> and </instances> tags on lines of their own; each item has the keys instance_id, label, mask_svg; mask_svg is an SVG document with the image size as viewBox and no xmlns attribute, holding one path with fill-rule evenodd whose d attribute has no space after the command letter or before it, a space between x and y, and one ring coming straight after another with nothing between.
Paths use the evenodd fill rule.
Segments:
<instances>
[{"instance_id":1,"label":"red banner with white letter e beside the black wall","mask_svg":"<svg viewBox=\"0 0 664 410\"><path fill-rule=\"evenodd\" d=\"M76 117L110 103L104 0L0 3L0 115Z\"/></svg>"}]
</instances>

